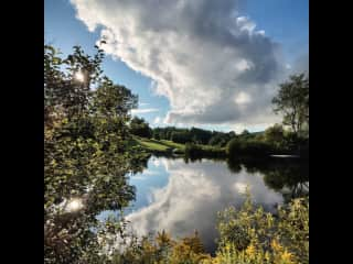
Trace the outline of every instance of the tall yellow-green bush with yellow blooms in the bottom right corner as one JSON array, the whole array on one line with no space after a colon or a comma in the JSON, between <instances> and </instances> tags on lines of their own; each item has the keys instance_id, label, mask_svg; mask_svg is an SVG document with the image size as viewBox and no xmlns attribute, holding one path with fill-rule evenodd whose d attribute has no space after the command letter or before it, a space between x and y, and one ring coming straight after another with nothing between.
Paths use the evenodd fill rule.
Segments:
<instances>
[{"instance_id":1,"label":"tall yellow-green bush with yellow blooms in the bottom right corner","mask_svg":"<svg viewBox=\"0 0 353 264\"><path fill-rule=\"evenodd\" d=\"M309 199L279 207L277 216L248 197L239 210L220 213L220 242L208 263L309 263Z\"/></svg>"}]
</instances>

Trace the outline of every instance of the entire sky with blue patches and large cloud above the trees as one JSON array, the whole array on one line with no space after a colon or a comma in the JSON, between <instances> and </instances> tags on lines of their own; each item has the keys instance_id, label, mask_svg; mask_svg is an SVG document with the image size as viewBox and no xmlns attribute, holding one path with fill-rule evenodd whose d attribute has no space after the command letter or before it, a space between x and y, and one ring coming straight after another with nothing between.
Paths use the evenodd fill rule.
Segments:
<instances>
[{"instance_id":1,"label":"entire sky with blue patches and large cloud above the trees","mask_svg":"<svg viewBox=\"0 0 353 264\"><path fill-rule=\"evenodd\" d=\"M271 98L309 73L309 0L45 0L45 42L107 44L105 74L139 96L151 127L260 131Z\"/></svg>"}]
</instances>

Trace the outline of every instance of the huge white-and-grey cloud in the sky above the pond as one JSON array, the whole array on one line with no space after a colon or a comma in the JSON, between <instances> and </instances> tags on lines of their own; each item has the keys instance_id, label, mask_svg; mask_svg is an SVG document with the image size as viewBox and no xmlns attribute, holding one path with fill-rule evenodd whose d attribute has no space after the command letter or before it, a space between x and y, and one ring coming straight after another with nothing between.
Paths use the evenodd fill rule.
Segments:
<instances>
[{"instance_id":1,"label":"huge white-and-grey cloud in the sky above the pond","mask_svg":"<svg viewBox=\"0 0 353 264\"><path fill-rule=\"evenodd\" d=\"M72 0L103 48L154 81L170 123L278 121L270 100L287 70L280 45L240 14L239 1ZM266 121L264 121L266 119Z\"/></svg>"}]
</instances>

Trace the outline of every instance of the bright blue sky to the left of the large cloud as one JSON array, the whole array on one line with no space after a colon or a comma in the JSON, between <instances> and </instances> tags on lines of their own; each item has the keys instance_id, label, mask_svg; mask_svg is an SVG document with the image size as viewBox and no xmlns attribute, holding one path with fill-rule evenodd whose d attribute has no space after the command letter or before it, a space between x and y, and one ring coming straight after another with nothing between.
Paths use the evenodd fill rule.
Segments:
<instances>
[{"instance_id":1,"label":"bright blue sky to the left of the large cloud","mask_svg":"<svg viewBox=\"0 0 353 264\"><path fill-rule=\"evenodd\" d=\"M99 34L88 32L87 26L75 18L75 10L68 0L45 0L44 36L46 42L58 47L63 54L69 54L74 45L81 45L84 51L93 54ZM168 100L152 95L150 78L131 70L126 64L113 59L111 56L106 56L103 69L115 82L124 85L137 94L139 103L142 103L141 107L168 111ZM151 112L139 116L152 121L157 114Z\"/></svg>"}]
</instances>

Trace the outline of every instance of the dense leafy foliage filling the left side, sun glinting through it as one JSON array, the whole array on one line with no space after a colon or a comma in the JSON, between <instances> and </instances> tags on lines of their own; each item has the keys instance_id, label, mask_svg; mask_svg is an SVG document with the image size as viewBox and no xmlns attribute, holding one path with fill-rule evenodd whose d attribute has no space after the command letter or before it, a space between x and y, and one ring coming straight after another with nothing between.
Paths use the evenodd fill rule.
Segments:
<instances>
[{"instance_id":1,"label":"dense leafy foliage filling the left side, sun glinting through it","mask_svg":"<svg viewBox=\"0 0 353 264\"><path fill-rule=\"evenodd\" d=\"M127 122L137 97L101 75L101 50L58 55L44 46L44 262L98 263L96 216L135 197L127 175L139 155Z\"/></svg>"}]
</instances>

